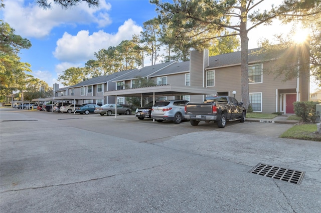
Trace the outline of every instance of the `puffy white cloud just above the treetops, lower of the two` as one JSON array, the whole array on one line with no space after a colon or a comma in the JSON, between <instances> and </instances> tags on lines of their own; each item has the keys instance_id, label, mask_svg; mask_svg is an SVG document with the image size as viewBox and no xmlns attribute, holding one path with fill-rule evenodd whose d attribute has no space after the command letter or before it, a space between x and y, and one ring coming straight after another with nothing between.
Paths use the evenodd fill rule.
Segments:
<instances>
[{"instance_id":1,"label":"puffy white cloud just above the treetops, lower of the two","mask_svg":"<svg viewBox=\"0 0 321 213\"><path fill-rule=\"evenodd\" d=\"M115 34L106 33L103 30L91 35L88 30L81 30L76 35L65 32L57 41L54 56L61 61L72 63L94 59L94 52L99 49L116 46L122 40L131 39L133 34L142 31L142 27L135 24L131 19L126 20L118 28Z\"/></svg>"}]
</instances>

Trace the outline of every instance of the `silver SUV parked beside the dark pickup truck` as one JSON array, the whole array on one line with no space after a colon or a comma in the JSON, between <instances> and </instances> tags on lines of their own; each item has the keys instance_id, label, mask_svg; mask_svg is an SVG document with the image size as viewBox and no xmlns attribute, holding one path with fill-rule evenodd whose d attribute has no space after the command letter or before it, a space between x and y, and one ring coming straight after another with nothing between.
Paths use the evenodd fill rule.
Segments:
<instances>
[{"instance_id":1,"label":"silver SUV parked beside the dark pickup truck","mask_svg":"<svg viewBox=\"0 0 321 213\"><path fill-rule=\"evenodd\" d=\"M157 122L173 120L180 123L184 119L185 104L188 100L157 100L151 107L151 118Z\"/></svg>"}]
</instances>

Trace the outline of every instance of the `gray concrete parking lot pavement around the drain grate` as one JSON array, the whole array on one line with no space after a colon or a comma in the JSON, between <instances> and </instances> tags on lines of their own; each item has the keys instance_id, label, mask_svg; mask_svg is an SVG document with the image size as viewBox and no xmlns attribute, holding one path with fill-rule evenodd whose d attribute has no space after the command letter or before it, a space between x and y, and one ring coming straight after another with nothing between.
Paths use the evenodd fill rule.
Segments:
<instances>
[{"instance_id":1,"label":"gray concrete parking lot pavement around the drain grate","mask_svg":"<svg viewBox=\"0 0 321 213\"><path fill-rule=\"evenodd\" d=\"M0 109L1 212L320 212L321 143L291 124L192 126ZM300 184L250 173L303 171Z\"/></svg>"}]
</instances>

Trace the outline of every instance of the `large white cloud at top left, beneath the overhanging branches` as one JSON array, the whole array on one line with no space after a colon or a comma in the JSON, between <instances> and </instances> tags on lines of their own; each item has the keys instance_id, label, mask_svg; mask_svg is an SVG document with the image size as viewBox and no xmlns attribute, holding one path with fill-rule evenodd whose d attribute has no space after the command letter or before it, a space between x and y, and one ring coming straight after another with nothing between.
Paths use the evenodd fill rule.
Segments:
<instances>
[{"instance_id":1,"label":"large white cloud at top left, beneath the overhanging branches","mask_svg":"<svg viewBox=\"0 0 321 213\"><path fill-rule=\"evenodd\" d=\"M26 1L30 2L30 1ZM41 38L50 34L54 27L75 23L96 23L99 27L111 23L107 13L111 5L104 0L98 7L88 7L82 2L72 9L63 9L53 4L52 9L40 8L34 1L27 5L24 0L5 0L3 19L23 37ZM70 15L72 12L72 15Z\"/></svg>"}]
</instances>

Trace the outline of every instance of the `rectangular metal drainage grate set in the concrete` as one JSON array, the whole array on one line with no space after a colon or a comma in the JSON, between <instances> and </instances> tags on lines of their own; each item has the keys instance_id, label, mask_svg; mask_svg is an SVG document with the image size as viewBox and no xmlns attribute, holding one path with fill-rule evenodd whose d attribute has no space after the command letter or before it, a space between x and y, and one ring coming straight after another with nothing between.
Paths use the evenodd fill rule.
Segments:
<instances>
[{"instance_id":1,"label":"rectangular metal drainage grate set in the concrete","mask_svg":"<svg viewBox=\"0 0 321 213\"><path fill-rule=\"evenodd\" d=\"M293 169L281 168L279 166L267 165L263 163L257 164L249 172L296 184L301 183L304 175L304 171L296 171Z\"/></svg>"}]
</instances>

